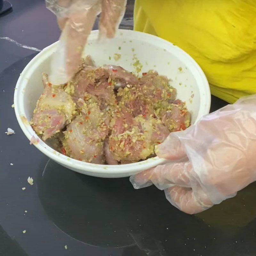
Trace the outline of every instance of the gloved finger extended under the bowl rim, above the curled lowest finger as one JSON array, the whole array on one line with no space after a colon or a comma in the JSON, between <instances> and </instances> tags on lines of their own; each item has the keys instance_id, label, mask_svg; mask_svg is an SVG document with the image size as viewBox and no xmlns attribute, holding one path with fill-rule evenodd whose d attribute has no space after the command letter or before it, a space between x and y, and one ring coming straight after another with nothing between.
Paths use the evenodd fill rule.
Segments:
<instances>
[{"instance_id":1,"label":"gloved finger extended under the bowl rim, above the curled lowest finger","mask_svg":"<svg viewBox=\"0 0 256 256\"><path fill-rule=\"evenodd\" d=\"M161 190L173 185L190 187L191 170L189 162L163 164L133 175L130 181L134 188L145 188L152 183Z\"/></svg>"}]
</instances>

